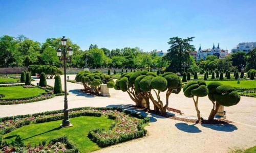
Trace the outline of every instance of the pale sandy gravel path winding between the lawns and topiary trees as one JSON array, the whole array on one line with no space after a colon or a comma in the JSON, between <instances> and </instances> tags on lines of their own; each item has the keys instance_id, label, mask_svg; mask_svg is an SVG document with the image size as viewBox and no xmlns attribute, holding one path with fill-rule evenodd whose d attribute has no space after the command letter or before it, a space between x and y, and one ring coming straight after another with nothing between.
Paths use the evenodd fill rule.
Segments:
<instances>
[{"instance_id":1,"label":"pale sandy gravel path winding between the lawns and topiary trees","mask_svg":"<svg viewBox=\"0 0 256 153\"><path fill-rule=\"evenodd\" d=\"M74 79L75 75L70 75ZM63 76L61 76L63 81ZM36 84L39 80L33 82ZM53 86L54 80L47 80ZM229 125L193 124L146 114L127 106L134 102L126 92L110 89L111 97L91 96L80 93L82 85L68 82L69 108L76 107L123 107L151 118L146 126L147 136L113 145L95 152L228 152L230 148L248 148L256 145L256 98L242 97L240 103L225 107L227 119L235 121ZM62 85L62 87L64 87ZM162 93L164 94L164 93ZM35 103L0 106L0 117L63 109L63 96ZM193 100L181 92L172 94L169 106L181 110L183 116L196 116ZM207 97L200 97L201 116L207 117L211 110ZM71 119L72 120L72 119ZM230 147L230 148L229 148Z\"/></svg>"}]
</instances>

